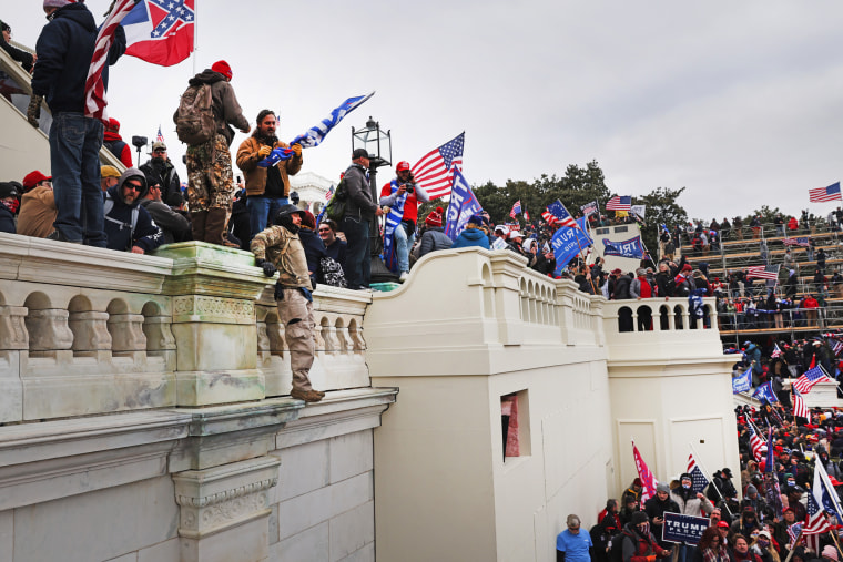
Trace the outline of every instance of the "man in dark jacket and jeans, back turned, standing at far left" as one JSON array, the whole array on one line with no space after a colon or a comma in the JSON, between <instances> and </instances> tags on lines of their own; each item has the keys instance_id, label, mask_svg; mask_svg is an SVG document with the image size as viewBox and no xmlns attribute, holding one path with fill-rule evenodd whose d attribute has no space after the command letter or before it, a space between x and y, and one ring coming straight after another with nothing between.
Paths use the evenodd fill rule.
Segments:
<instances>
[{"instance_id":1,"label":"man in dark jacket and jeans, back turned, standing at far left","mask_svg":"<svg viewBox=\"0 0 843 562\"><path fill-rule=\"evenodd\" d=\"M102 122L84 116L85 80L91 67L97 23L77 0L44 0L49 23L35 43L38 64L27 117L38 126L41 101L52 112L50 168L55 194L54 239L105 247L100 191ZM108 63L125 51L125 32L118 27ZM102 79L108 86L108 65Z\"/></svg>"}]
</instances>

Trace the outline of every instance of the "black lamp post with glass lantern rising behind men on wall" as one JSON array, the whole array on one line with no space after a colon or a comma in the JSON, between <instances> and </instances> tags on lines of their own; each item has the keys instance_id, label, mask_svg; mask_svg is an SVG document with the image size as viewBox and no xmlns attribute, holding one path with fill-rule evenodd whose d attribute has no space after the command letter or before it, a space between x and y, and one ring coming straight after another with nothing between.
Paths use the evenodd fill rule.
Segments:
<instances>
[{"instance_id":1,"label":"black lamp post with glass lantern rising behind men on wall","mask_svg":"<svg viewBox=\"0 0 843 562\"><path fill-rule=\"evenodd\" d=\"M377 203L380 200L377 188L377 168L380 166L390 166L393 160L393 140L392 131L383 131L380 123L369 116L366 126L362 129L352 127L352 151L365 149L369 154L369 190L372 200ZM380 259L380 252L384 249L380 238L380 221L375 218L369 227L369 248L372 251L372 282L394 282L397 276L390 272Z\"/></svg>"}]
</instances>

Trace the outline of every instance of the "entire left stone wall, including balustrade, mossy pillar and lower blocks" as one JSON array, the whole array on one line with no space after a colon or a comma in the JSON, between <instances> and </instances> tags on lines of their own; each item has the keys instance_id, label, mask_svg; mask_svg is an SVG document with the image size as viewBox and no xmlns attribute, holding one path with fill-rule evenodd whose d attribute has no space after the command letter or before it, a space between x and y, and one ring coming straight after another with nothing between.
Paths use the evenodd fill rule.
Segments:
<instances>
[{"instance_id":1,"label":"entire left stone wall, including balustrade, mossy pillar and lower blocks","mask_svg":"<svg viewBox=\"0 0 843 562\"><path fill-rule=\"evenodd\" d=\"M0 234L0 562L374 560L370 297L319 288L291 387L251 254Z\"/></svg>"}]
</instances>

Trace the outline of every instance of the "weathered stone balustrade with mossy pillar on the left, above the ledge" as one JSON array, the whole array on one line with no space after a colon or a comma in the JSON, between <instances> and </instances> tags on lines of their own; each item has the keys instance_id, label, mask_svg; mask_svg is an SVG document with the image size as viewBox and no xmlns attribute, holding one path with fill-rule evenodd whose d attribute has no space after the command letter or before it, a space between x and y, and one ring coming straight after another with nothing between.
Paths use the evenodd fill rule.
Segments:
<instances>
[{"instance_id":1,"label":"weathered stone balustrade with mossy pillar on the left, above the ledge","mask_svg":"<svg viewBox=\"0 0 843 562\"><path fill-rule=\"evenodd\" d=\"M0 233L0 422L290 394L274 279L250 253L139 256ZM368 387L366 293L315 293L324 390Z\"/></svg>"}]
</instances>

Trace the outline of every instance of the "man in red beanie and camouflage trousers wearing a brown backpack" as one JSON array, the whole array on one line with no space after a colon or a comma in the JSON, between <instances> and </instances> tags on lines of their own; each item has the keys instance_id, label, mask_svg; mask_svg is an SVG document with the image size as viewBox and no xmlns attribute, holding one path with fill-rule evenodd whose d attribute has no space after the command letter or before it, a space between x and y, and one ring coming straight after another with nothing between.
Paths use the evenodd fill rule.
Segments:
<instances>
[{"instance_id":1,"label":"man in red beanie and camouflage trousers wearing a brown backpack","mask_svg":"<svg viewBox=\"0 0 843 562\"><path fill-rule=\"evenodd\" d=\"M234 178L231 168L231 152L228 147L234 140L236 126L243 133L248 133L248 120L234 95L234 89L228 82L233 76L231 67L225 61L216 61L210 69L200 72L190 81L190 88L182 95L182 102L173 115L179 132L179 139L187 142L187 202L191 210L191 226L194 241L211 244L223 244L231 207L234 200ZM203 86L211 90L210 110L201 102L205 96ZM190 104L193 100L195 105ZM203 108L203 109L200 109ZM202 113L211 112L211 120L202 119ZM197 142L185 141L183 134L189 120L199 119L201 131L193 139L207 140ZM213 129L213 131L209 131Z\"/></svg>"}]
</instances>

